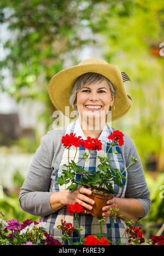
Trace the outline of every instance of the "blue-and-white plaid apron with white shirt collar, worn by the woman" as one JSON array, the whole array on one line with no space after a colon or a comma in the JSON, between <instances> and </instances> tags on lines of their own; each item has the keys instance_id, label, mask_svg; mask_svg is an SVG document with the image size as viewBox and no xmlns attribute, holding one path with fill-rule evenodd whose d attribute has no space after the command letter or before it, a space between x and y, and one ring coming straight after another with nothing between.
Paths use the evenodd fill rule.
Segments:
<instances>
[{"instance_id":1,"label":"blue-and-white plaid apron with white shirt collar, worn by the woman","mask_svg":"<svg viewBox=\"0 0 164 256\"><path fill-rule=\"evenodd\" d=\"M66 127L65 134L70 134L72 132L75 133L76 136L81 136L83 139L86 139L86 137L83 133L83 130L81 129L79 119L73 123L70 123ZM85 165L84 165L85 170L93 170L93 171L99 170L97 168L97 166L100 162L99 162L99 158L97 158L96 156L104 157L107 155L108 149L110 147L110 141L109 141L109 139L107 139L107 137L112 133L113 133L113 129L111 127L109 127L108 124L106 123L106 125L104 126L104 128L102 130L101 135L98 138L102 142L102 150L101 151L97 151L97 150L90 151L90 156L87 158ZM118 144L116 144L114 147L111 147L108 152L108 157L111 155L112 150L118 151L118 154L113 154L110 157L110 161L112 162L111 165L113 168L117 168L120 172L122 172L126 167L125 167L124 161L122 159L120 146ZM78 148L78 151L77 151L74 161L78 162L81 158L83 158L83 155L85 152L88 153L89 150L80 146ZM75 155L75 147L72 146L69 149L69 161L73 160L74 155ZM83 166L83 163L84 163L84 160L81 160L79 162L79 166ZM60 166L57 169L57 174L56 174L56 177L54 180L54 185L51 190L53 192L65 191L66 188L69 185L71 185L71 183L64 184L62 186L56 184L57 178L62 175L62 169L66 169L66 167L63 166L63 164L68 164L68 150L67 149L64 150ZM76 180L80 180L80 175L83 175L83 174L77 174ZM124 172L124 175L127 178L126 171ZM113 183L115 197L125 197L127 180L122 180L122 184L123 184L123 187L118 187L116 184ZM72 234L70 235L71 239L69 240L69 243L79 242L80 237L79 237L79 232L77 230L77 221L74 217L74 214L70 215L67 212L67 208L68 207L65 206L65 207L59 209L58 211L56 211L48 216L45 216L43 220L49 224L50 234L60 242L61 242L61 234L60 234L60 230L57 229L57 226L61 224L61 219L63 219L63 221L66 221L66 223L72 223L75 231L72 232ZM106 218L106 221L103 222L102 234L104 237L107 237L107 234L110 230L112 221L113 221L113 217L108 216ZM84 238L88 235L97 234L99 231L98 219L97 219L97 217L92 216L91 214L80 213L79 218L78 218L78 224L83 229L83 230L81 230L82 238ZM108 236L108 239L112 240L112 243L115 244L116 242L118 242L120 240L121 236L125 232L125 229L126 229L126 225L125 225L124 220L122 220L121 218L116 218L114 220L114 224L112 226L112 230L110 231L110 235ZM125 235L121 239L121 242L127 242L127 235ZM67 243L65 243L65 244L67 244Z\"/></svg>"}]
</instances>

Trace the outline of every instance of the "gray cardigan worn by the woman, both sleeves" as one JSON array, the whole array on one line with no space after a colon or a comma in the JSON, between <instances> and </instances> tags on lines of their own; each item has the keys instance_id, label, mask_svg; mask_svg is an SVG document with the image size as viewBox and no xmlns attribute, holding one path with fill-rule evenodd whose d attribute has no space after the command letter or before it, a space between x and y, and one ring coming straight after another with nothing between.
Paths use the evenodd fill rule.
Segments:
<instances>
[{"instance_id":1,"label":"gray cardigan worn by the woman, both sleeves","mask_svg":"<svg viewBox=\"0 0 164 256\"><path fill-rule=\"evenodd\" d=\"M54 213L49 198L64 151L64 146L61 145L63 135L65 135L65 128L61 127L50 130L41 139L20 191L19 202L25 212L37 216ZM120 147L120 150L126 167L131 162L130 156L138 160L127 169L125 197L136 198L144 207L145 217L150 211L150 192L136 146L130 136L125 133L124 145Z\"/></svg>"}]
</instances>

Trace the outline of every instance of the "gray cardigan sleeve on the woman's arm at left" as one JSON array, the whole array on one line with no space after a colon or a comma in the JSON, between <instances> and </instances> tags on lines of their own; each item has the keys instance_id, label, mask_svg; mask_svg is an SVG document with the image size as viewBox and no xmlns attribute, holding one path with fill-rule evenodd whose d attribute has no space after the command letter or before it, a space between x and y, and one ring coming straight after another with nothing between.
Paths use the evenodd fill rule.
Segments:
<instances>
[{"instance_id":1,"label":"gray cardigan sleeve on the woman's arm at left","mask_svg":"<svg viewBox=\"0 0 164 256\"><path fill-rule=\"evenodd\" d=\"M32 215L45 216L54 211L50 207L49 192L51 180L51 162L53 155L52 139L49 132L41 139L24 184L20 190L21 208Z\"/></svg>"}]
</instances>

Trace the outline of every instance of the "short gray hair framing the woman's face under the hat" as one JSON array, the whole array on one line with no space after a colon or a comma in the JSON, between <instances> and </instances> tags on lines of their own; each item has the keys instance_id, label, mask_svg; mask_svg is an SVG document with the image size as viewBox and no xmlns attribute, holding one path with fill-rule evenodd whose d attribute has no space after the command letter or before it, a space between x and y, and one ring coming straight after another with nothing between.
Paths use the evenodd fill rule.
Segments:
<instances>
[{"instance_id":1,"label":"short gray hair framing the woman's face under the hat","mask_svg":"<svg viewBox=\"0 0 164 256\"><path fill-rule=\"evenodd\" d=\"M77 100L77 93L79 92L79 90L84 86L84 84L93 84L93 83L97 83L97 82L102 82L102 81L106 81L109 88L110 88L110 93L112 96L116 97L116 93L115 93L115 89L114 86L112 84L112 82L110 82L110 80L98 73L85 73L83 75L81 75L80 77L78 77L78 79L74 82L73 87L72 87L72 91L71 91L71 95L69 98L69 103L73 106L76 103Z\"/></svg>"}]
</instances>

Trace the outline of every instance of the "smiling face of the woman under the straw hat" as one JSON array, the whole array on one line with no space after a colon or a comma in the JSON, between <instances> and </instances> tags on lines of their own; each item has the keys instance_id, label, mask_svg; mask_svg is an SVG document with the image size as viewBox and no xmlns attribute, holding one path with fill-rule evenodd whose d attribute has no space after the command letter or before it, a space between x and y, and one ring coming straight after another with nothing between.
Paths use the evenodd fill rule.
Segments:
<instances>
[{"instance_id":1,"label":"smiling face of the woman under the straw hat","mask_svg":"<svg viewBox=\"0 0 164 256\"><path fill-rule=\"evenodd\" d=\"M77 93L75 105L81 116L98 117L103 113L106 117L113 103L114 96L111 95L107 82L102 81L90 85L86 83Z\"/></svg>"}]
</instances>

